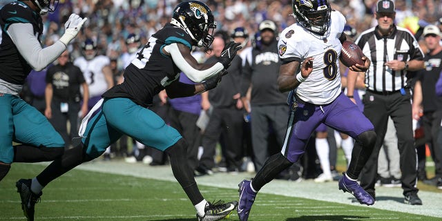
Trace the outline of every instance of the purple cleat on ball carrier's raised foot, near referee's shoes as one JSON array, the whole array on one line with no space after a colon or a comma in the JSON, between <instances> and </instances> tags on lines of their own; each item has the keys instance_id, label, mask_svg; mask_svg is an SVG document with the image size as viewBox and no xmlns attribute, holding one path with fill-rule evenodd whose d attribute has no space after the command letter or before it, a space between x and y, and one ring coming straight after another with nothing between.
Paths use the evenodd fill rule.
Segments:
<instances>
[{"instance_id":1,"label":"purple cleat on ball carrier's raised foot, near referee's shoes","mask_svg":"<svg viewBox=\"0 0 442 221\"><path fill-rule=\"evenodd\" d=\"M352 193L356 200L358 200L361 204L366 204L368 206L374 204L374 198L372 195L369 195L367 191L359 186L358 182L349 180L345 173L343 173L343 177L341 177L339 180L339 189L344 191L344 193Z\"/></svg>"}]
</instances>

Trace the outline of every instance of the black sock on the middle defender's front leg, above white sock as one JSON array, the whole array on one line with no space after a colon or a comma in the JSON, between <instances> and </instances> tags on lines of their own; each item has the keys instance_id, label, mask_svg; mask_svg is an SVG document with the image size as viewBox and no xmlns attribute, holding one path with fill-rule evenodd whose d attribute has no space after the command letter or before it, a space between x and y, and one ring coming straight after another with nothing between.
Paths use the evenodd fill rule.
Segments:
<instances>
[{"instance_id":1,"label":"black sock on the middle defender's front leg, above white sock","mask_svg":"<svg viewBox=\"0 0 442 221\"><path fill-rule=\"evenodd\" d=\"M178 140L173 146L166 149L166 153L171 160L172 172L177 181L182 186L182 189L187 194L193 205L200 203L204 198L202 197L198 185L193 177L186 155L187 143L184 138Z\"/></svg>"}]
</instances>

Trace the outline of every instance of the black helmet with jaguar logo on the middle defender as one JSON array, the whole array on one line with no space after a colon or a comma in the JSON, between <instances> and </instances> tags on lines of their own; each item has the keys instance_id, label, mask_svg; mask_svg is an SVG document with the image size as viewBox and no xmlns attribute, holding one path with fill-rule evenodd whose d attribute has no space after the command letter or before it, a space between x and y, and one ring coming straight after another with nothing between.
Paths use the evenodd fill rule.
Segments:
<instances>
[{"instance_id":1,"label":"black helmet with jaguar logo on the middle defender","mask_svg":"<svg viewBox=\"0 0 442 221\"><path fill-rule=\"evenodd\" d=\"M195 46L209 48L216 22L212 11L200 1L183 1L173 10L171 24L185 30ZM209 34L209 31L211 33Z\"/></svg>"}]
</instances>

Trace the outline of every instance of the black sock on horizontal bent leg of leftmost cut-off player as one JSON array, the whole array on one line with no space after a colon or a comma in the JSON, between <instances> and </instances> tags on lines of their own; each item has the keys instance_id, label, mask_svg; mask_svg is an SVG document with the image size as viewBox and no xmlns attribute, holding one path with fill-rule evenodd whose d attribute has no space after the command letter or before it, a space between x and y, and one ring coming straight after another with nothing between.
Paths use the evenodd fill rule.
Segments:
<instances>
[{"instance_id":1,"label":"black sock on horizontal bent leg of leftmost cut-off player","mask_svg":"<svg viewBox=\"0 0 442 221\"><path fill-rule=\"evenodd\" d=\"M60 157L64 152L64 146L45 147L20 144L14 146L14 162L35 163L52 161Z\"/></svg>"}]
</instances>

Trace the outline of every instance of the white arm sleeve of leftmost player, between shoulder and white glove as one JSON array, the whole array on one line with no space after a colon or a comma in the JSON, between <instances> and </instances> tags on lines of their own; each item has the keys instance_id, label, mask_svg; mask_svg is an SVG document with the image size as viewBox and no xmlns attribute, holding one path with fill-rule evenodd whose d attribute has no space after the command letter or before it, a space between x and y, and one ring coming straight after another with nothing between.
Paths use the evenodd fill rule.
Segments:
<instances>
[{"instance_id":1,"label":"white arm sleeve of leftmost player, between shoulder and white glove","mask_svg":"<svg viewBox=\"0 0 442 221\"><path fill-rule=\"evenodd\" d=\"M52 46L41 48L30 23L13 23L6 32L19 50L20 55L37 71L46 68L66 49L66 46L60 41L56 41Z\"/></svg>"}]
</instances>

